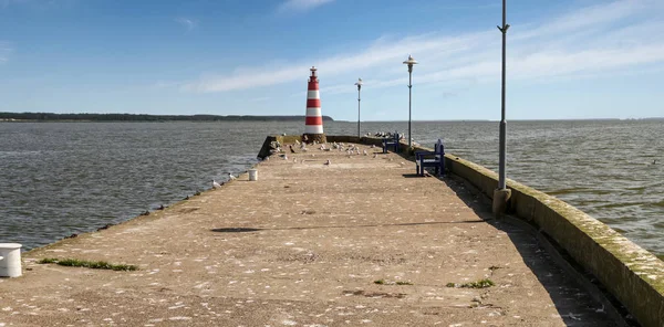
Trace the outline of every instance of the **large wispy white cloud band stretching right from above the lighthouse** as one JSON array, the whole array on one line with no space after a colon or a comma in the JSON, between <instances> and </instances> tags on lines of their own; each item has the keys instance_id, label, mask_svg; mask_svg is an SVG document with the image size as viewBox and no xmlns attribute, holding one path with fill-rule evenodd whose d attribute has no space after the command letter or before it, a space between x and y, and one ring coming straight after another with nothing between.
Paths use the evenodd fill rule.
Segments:
<instances>
[{"instance_id":1,"label":"large wispy white cloud band stretching right from above the lighthouse","mask_svg":"<svg viewBox=\"0 0 664 327\"><path fill-rule=\"evenodd\" d=\"M657 6L652 0L619 0L538 23L517 24L508 33L509 78L618 74L664 64L664 20L649 15L656 12L653 8ZM476 84L500 76L500 33L492 28L454 36L427 33L380 38L354 55L304 57L260 70L237 67L230 74L208 74L184 82L180 88L209 93L284 84L305 78L312 64L326 78L323 91L331 94L354 92L347 81L357 76L364 77L367 87L391 87L407 83L407 73L400 63L408 53L421 62L414 75L418 84Z\"/></svg>"}]
</instances>

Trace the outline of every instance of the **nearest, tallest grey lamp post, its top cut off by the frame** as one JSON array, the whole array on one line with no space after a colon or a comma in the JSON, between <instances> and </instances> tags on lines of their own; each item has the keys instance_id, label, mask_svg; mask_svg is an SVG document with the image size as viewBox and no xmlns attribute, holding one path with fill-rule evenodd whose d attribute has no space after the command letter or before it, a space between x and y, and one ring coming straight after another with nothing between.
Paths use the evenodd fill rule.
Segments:
<instances>
[{"instance_id":1,"label":"nearest, tallest grey lamp post, its top cut off by the frame","mask_svg":"<svg viewBox=\"0 0 664 327\"><path fill-rule=\"evenodd\" d=\"M502 0L502 27L498 27L498 30L502 33L502 89L501 89L501 106L500 106L500 135L499 135L499 144L500 144L500 154L498 157L498 189L494 192L494 214L500 217L505 213L507 208L507 201L509 200L511 192L506 187L506 178L505 178L505 156L506 156L506 129L507 122L505 120L505 80L506 80L506 43L507 43L507 30L509 29L509 24L507 21L507 6L506 0Z\"/></svg>"}]
</instances>

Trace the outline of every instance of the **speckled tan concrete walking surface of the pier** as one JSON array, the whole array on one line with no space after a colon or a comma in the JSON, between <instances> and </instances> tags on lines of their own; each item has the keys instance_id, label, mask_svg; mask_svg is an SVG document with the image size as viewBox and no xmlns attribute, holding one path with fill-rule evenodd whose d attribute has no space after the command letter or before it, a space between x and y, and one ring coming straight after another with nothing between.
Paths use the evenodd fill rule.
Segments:
<instances>
[{"instance_id":1,"label":"speckled tan concrete walking surface of the pier","mask_svg":"<svg viewBox=\"0 0 664 327\"><path fill-rule=\"evenodd\" d=\"M25 253L23 276L0 278L0 326L613 325L463 183L363 149L272 156L258 181ZM495 285L458 287L480 279Z\"/></svg>"}]
</instances>

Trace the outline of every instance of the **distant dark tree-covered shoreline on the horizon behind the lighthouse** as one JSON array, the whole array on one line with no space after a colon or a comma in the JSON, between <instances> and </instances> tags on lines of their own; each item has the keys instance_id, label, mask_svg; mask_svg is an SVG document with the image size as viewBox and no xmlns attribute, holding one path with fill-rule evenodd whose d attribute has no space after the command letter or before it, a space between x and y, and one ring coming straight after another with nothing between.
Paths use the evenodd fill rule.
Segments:
<instances>
[{"instance_id":1,"label":"distant dark tree-covered shoreline on the horizon behind the lighthouse","mask_svg":"<svg viewBox=\"0 0 664 327\"><path fill-rule=\"evenodd\" d=\"M144 114L53 114L0 113L0 120L81 120L81 122L297 122L304 116L249 116L249 115L144 115ZM323 120L334 120L323 116Z\"/></svg>"}]
</instances>

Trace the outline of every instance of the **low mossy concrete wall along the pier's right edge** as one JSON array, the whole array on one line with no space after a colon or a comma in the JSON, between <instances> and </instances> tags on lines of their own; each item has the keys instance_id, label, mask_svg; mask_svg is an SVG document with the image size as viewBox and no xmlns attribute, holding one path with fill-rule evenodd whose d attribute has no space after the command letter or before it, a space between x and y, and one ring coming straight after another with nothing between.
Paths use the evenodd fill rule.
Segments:
<instances>
[{"instance_id":1,"label":"low mossy concrete wall along the pier's right edge","mask_svg":"<svg viewBox=\"0 0 664 327\"><path fill-rule=\"evenodd\" d=\"M453 155L449 172L491 198L498 175ZM664 326L664 262L604 223L543 192L507 180L508 212L535 224L592 273L643 326Z\"/></svg>"}]
</instances>

